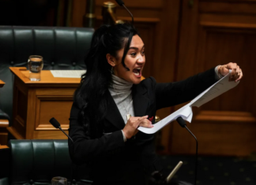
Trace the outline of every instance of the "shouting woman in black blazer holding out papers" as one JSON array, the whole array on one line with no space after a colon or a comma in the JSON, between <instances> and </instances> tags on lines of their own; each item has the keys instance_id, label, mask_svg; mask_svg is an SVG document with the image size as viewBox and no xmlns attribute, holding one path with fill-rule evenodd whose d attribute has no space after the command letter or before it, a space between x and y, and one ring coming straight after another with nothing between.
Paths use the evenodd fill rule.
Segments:
<instances>
[{"instance_id":1,"label":"shouting woman in black blazer holding out papers","mask_svg":"<svg viewBox=\"0 0 256 185\"><path fill-rule=\"evenodd\" d=\"M228 69L232 80L243 76L238 65L229 63L180 82L141 81L145 46L130 24L96 30L85 65L70 113L74 143L69 146L76 164L90 165L94 184L145 184L161 166L153 135L137 127L152 128L157 109L193 99Z\"/></svg>"}]
</instances>

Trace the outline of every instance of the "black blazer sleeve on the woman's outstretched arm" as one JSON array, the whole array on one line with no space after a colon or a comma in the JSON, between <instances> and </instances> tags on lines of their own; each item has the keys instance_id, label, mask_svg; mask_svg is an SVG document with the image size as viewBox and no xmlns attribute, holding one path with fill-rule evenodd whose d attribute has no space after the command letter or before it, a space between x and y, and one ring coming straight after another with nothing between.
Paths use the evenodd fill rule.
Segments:
<instances>
[{"instance_id":1,"label":"black blazer sleeve on the woman's outstretched arm","mask_svg":"<svg viewBox=\"0 0 256 185\"><path fill-rule=\"evenodd\" d=\"M156 109L190 101L213 83L216 83L215 68L179 82L155 83Z\"/></svg>"}]
</instances>

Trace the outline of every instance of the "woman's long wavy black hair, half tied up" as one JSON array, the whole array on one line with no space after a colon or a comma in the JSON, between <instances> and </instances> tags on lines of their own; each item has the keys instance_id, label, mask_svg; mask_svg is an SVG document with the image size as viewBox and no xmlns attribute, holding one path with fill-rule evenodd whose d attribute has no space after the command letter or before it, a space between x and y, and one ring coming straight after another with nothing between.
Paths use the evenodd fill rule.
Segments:
<instances>
[{"instance_id":1,"label":"woman's long wavy black hair, half tied up","mask_svg":"<svg viewBox=\"0 0 256 185\"><path fill-rule=\"evenodd\" d=\"M131 24L115 24L101 26L92 36L91 47L85 57L87 72L81 76L80 87L74 94L74 102L81 109L79 121L92 138L102 135L102 124L107 115L106 93L111 83L111 65L106 55L118 57L117 51L124 48L122 65L126 68L124 59L131 39L137 34Z\"/></svg>"}]
</instances>

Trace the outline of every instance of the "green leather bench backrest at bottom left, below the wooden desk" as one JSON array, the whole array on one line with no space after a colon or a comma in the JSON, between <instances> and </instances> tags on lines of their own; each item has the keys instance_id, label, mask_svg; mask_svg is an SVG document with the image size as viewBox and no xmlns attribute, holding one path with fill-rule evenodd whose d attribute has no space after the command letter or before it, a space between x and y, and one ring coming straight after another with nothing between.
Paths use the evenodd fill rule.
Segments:
<instances>
[{"instance_id":1,"label":"green leather bench backrest at bottom left, below the wooden desk","mask_svg":"<svg viewBox=\"0 0 256 185\"><path fill-rule=\"evenodd\" d=\"M74 166L67 140L10 140L8 149L0 150L0 185L51 184L52 177L62 176L73 184L89 185L89 170Z\"/></svg>"}]
</instances>

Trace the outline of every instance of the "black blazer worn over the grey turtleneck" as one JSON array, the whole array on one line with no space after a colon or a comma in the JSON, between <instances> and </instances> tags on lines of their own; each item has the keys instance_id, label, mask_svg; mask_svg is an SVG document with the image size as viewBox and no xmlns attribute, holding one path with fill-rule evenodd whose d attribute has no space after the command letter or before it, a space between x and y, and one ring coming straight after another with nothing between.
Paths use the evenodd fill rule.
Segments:
<instances>
[{"instance_id":1,"label":"black blazer worn over the grey turtleneck","mask_svg":"<svg viewBox=\"0 0 256 185\"><path fill-rule=\"evenodd\" d=\"M216 82L214 68L196 76L174 82L156 83L152 77L134 85L132 89L136 117L149 115L155 123L156 110L190 101ZM78 164L87 163L92 169L95 184L145 184L145 177L153 171L160 171L161 165L153 146L153 135L139 131L126 142L122 138L125 123L107 92L109 107L104 121L104 133L98 139L91 139L77 117L80 109L73 103L70 113L70 156Z\"/></svg>"}]
</instances>

